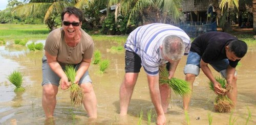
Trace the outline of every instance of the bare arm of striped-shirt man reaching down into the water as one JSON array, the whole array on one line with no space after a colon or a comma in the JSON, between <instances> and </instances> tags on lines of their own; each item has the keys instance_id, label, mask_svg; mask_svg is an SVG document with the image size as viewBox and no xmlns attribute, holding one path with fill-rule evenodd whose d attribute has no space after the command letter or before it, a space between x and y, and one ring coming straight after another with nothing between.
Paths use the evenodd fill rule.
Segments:
<instances>
[{"instance_id":1,"label":"bare arm of striped-shirt man reaching down into the water","mask_svg":"<svg viewBox=\"0 0 256 125\"><path fill-rule=\"evenodd\" d=\"M149 76L147 75L148 86L150 87L150 95L152 103L155 106L157 112L157 123L165 124L166 119L162 108L161 96L159 90L159 76Z\"/></svg>"}]
</instances>

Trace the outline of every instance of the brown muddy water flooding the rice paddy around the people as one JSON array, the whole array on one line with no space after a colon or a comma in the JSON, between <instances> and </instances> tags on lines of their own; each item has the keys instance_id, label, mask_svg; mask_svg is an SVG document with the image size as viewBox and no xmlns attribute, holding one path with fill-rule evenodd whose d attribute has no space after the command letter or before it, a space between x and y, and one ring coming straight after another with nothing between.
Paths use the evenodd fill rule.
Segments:
<instances>
[{"instance_id":1,"label":"brown muddy water flooding the rice paddy around the people","mask_svg":"<svg viewBox=\"0 0 256 125\"><path fill-rule=\"evenodd\" d=\"M124 76L124 53L111 53L109 48L117 46L113 41L95 41L95 48L102 53L102 59L109 59L111 64L105 74L97 74L98 65L89 68L94 90L98 101L98 118L89 119L87 112L80 107L75 109L70 104L69 91L59 89L54 119L45 120L41 108L41 57L43 52L29 52L25 47L15 47L11 44L0 46L0 124L137 124L138 115L143 111L142 124L147 124L147 112L152 109L146 75L143 69L139 74L137 84L129 106L128 115L119 117L119 86ZM13 49L14 48L14 49ZM256 47L241 60L238 67L238 103L231 115L234 124L245 124L248 110L251 119L248 124L256 124ZM182 58L176 78L184 79L183 67L186 58ZM25 74L23 86L26 92L17 95L14 86L6 79L14 69ZM219 76L218 72L213 72ZM208 79L200 72L194 83L188 116L190 124L208 124L208 114L212 117L212 124L229 124L230 113L216 113L212 102L216 95L207 85ZM156 116L156 115L155 115ZM186 124L182 109L182 98L172 94L171 103L166 114L167 124ZM156 117L152 119L155 122Z\"/></svg>"}]
</instances>

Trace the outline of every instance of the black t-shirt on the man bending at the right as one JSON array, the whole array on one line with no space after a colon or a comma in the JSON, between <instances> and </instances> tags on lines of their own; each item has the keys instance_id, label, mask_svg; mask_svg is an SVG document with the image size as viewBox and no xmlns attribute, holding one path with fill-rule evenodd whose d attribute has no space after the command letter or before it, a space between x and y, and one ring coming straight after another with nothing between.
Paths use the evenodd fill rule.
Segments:
<instances>
[{"instance_id":1,"label":"black t-shirt on the man bending at the right","mask_svg":"<svg viewBox=\"0 0 256 125\"><path fill-rule=\"evenodd\" d=\"M198 53L205 63L227 59L225 46L236 37L224 32L208 32L198 36L190 47L191 52ZM229 65L236 67L240 60L229 61Z\"/></svg>"}]
</instances>

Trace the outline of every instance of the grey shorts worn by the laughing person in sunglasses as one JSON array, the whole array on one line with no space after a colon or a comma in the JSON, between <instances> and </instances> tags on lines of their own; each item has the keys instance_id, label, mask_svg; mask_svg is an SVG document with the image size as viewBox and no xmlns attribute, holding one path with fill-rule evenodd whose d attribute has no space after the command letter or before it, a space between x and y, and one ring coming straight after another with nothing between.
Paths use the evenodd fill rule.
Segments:
<instances>
[{"instance_id":1,"label":"grey shorts worn by the laughing person in sunglasses","mask_svg":"<svg viewBox=\"0 0 256 125\"><path fill-rule=\"evenodd\" d=\"M80 66L79 64L74 65L75 69L77 70L78 67ZM65 66L61 66L63 70L65 70ZM47 63L47 58L45 56L42 57L42 83L41 85L44 86L46 84L53 84L56 86L59 86L59 81L60 78L58 75L50 68L50 66ZM89 76L88 70L86 73L83 74L81 79L78 82L78 85L83 84L83 83L92 83L92 80Z\"/></svg>"}]
</instances>

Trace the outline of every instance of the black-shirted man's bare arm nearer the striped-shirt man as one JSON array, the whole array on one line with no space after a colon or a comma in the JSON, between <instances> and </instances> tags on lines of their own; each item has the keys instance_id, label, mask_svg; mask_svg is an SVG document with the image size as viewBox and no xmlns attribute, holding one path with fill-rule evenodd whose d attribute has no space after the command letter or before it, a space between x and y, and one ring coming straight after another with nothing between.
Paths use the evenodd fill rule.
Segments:
<instances>
[{"instance_id":1,"label":"black-shirted man's bare arm nearer the striped-shirt man","mask_svg":"<svg viewBox=\"0 0 256 125\"><path fill-rule=\"evenodd\" d=\"M208 63L205 63L202 59L200 61L200 67L203 70L205 76L212 82L214 83L214 90L215 93L217 94L223 94L223 91L221 90L221 85L219 82L217 82L212 75L210 68L208 67Z\"/></svg>"}]
</instances>

